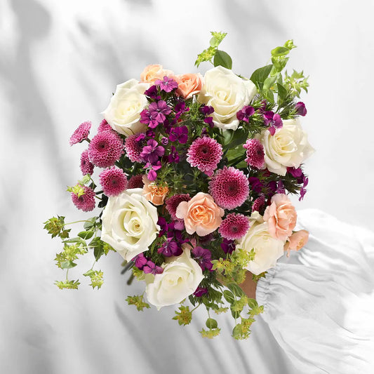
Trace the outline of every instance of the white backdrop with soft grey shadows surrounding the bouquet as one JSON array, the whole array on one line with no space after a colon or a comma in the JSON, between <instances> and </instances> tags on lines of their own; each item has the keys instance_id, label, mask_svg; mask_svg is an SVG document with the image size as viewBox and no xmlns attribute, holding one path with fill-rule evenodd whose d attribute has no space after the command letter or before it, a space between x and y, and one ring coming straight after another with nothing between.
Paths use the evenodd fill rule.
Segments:
<instances>
[{"instance_id":1,"label":"white backdrop with soft grey shadows surrounding the bouquet","mask_svg":"<svg viewBox=\"0 0 374 374\"><path fill-rule=\"evenodd\" d=\"M374 229L373 4L1 0L0 371L276 373L273 363L287 365L260 328L248 342L232 342L229 333L206 342L196 337L203 314L182 330L171 308L126 307L124 298L141 293L142 285L126 286L116 254L101 261L106 283L99 292L82 276L81 290L58 290L53 281L64 274L53 258L60 247L42 222L57 214L84 217L65 192L81 177L84 146L70 148L68 140L82 121L98 125L116 84L139 79L152 63L196 72L209 32L225 31L222 49L244 76L265 65L272 48L294 39L289 69L310 76L303 126L316 149L306 163L308 193L297 208L320 208ZM81 270L90 267L91 259ZM217 358L222 347L226 356Z\"/></svg>"}]
</instances>

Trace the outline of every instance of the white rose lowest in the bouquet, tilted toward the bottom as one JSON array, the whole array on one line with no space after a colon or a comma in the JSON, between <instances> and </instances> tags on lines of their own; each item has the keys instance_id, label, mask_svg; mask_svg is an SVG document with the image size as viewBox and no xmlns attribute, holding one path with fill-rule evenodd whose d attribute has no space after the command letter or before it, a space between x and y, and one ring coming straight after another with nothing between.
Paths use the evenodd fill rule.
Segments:
<instances>
[{"instance_id":1,"label":"white rose lowest in the bouquet, tilted toward the bottom","mask_svg":"<svg viewBox=\"0 0 374 374\"><path fill-rule=\"evenodd\" d=\"M200 265L191 258L189 248L169 261L163 264L161 274L147 274L147 299L157 308L177 304L192 295L204 277Z\"/></svg>"}]
</instances>

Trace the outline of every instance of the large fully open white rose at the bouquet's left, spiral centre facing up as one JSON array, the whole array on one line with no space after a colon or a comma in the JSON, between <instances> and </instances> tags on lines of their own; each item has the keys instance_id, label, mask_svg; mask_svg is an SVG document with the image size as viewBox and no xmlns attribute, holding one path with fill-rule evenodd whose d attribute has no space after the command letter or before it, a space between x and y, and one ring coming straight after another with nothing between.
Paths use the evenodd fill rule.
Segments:
<instances>
[{"instance_id":1,"label":"large fully open white rose at the bouquet's left, spiral centre facing up","mask_svg":"<svg viewBox=\"0 0 374 374\"><path fill-rule=\"evenodd\" d=\"M101 240L130 261L156 239L160 230L157 220L157 209L142 196L142 189L127 189L109 197L102 212Z\"/></svg>"}]
</instances>

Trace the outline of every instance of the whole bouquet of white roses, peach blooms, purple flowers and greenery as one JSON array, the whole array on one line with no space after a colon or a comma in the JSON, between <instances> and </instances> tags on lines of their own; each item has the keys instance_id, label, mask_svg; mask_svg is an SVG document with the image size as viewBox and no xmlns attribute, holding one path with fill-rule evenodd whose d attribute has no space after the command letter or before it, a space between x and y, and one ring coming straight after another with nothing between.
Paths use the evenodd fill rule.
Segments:
<instances>
[{"instance_id":1,"label":"whole bouquet of white roses, peach blooms, purple flowers and greenery","mask_svg":"<svg viewBox=\"0 0 374 374\"><path fill-rule=\"evenodd\" d=\"M129 296L128 304L178 305L173 319L180 325L205 305L200 332L207 338L220 333L211 312L229 312L233 337L243 339L262 307L241 283L246 276L257 281L284 251L307 241L307 232L293 231L297 214L288 194L304 197L302 163L313 149L300 121L307 110L296 100L307 79L285 71L293 41L274 48L272 63L247 79L218 48L225 36L212 32L198 55L198 67L214 65L204 76L149 65L140 81L116 87L92 138L91 122L81 123L70 145L88 145L83 178L67 190L76 208L98 208L98 215L73 237L63 216L44 223L62 239L60 269L68 273L79 255L93 253L95 266L117 252L129 281L145 282L146 298ZM103 274L94 266L83 275L100 288ZM67 276L56 284L80 283Z\"/></svg>"}]
</instances>

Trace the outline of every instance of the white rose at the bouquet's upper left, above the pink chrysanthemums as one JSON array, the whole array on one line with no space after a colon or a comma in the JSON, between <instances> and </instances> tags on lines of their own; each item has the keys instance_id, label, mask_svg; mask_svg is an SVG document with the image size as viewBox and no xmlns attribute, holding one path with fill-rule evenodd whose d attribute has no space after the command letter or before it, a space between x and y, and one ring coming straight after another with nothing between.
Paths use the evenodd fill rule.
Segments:
<instances>
[{"instance_id":1,"label":"white rose at the bouquet's upper left, above the pink chrysanthemums","mask_svg":"<svg viewBox=\"0 0 374 374\"><path fill-rule=\"evenodd\" d=\"M144 95L147 88L149 84L139 83L136 79L130 79L116 87L107 109L102 112L113 130L125 136L145 131L146 125L139 120L140 112L148 104Z\"/></svg>"}]
</instances>

